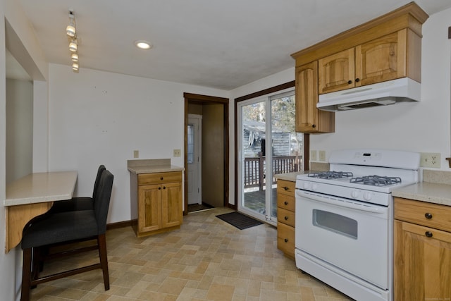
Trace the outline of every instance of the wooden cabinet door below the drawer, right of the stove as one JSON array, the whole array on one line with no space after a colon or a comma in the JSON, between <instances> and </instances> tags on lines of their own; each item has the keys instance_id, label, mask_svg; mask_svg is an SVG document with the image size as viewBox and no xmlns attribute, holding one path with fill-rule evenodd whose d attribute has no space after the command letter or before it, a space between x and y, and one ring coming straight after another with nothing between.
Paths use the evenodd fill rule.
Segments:
<instances>
[{"instance_id":1,"label":"wooden cabinet door below the drawer, right of the stove","mask_svg":"<svg viewBox=\"0 0 451 301\"><path fill-rule=\"evenodd\" d=\"M395 221L395 300L446 300L450 269L451 233Z\"/></svg>"}]
</instances>

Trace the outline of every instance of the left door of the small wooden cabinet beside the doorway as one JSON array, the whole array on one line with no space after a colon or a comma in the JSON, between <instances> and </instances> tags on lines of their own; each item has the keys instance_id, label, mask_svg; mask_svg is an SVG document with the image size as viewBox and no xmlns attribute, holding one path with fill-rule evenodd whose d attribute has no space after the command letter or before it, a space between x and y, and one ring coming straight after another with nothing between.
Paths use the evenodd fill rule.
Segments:
<instances>
[{"instance_id":1,"label":"left door of the small wooden cabinet beside the doorway","mask_svg":"<svg viewBox=\"0 0 451 301\"><path fill-rule=\"evenodd\" d=\"M160 219L160 185L144 185L138 189L138 229L140 232L154 231L161 228Z\"/></svg>"}]
</instances>

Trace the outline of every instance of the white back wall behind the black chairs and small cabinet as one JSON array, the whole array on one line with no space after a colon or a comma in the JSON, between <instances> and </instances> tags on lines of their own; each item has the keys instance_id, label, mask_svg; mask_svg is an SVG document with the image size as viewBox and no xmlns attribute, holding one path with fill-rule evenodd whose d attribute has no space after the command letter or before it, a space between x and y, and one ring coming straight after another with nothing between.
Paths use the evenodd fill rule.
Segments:
<instances>
[{"instance_id":1,"label":"white back wall behind the black chairs and small cabinet","mask_svg":"<svg viewBox=\"0 0 451 301\"><path fill-rule=\"evenodd\" d=\"M99 164L114 175L108 223L130 221L133 150L140 159L170 158L183 166L183 92L228 92L70 66L49 66L49 170L78 171L75 195L92 195Z\"/></svg>"}]
</instances>

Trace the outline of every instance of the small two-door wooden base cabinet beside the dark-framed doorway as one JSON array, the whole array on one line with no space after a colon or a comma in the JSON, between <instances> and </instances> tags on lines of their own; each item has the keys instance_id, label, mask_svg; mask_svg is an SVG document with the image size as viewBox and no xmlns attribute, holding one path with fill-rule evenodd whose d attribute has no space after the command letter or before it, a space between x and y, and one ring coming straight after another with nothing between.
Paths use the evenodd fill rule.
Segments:
<instances>
[{"instance_id":1,"label":"small two-door wooden base cabinet beside the dark-framed doorway","mask_svg":"<svg viewBox=\"0 0 451 301\"><path fill-rule=\"evenodd\" d=\"M137 175L138 237L180 228L183 222L182 173L144 173Z\"/></svg>"}]
</instances>

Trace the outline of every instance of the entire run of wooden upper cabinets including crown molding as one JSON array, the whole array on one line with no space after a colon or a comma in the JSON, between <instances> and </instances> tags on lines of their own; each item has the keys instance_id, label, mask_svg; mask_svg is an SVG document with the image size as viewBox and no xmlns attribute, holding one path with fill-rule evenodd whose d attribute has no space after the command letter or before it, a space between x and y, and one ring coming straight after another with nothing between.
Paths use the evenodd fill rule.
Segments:
<instances>
[{"instance_id":1,"label":"entire run of wooden upper cabinets including crown molding","mask_svg":"<svg viewBox=\"0 0 451 301\"><path fill-rule=\"evenodd\" d=\"M334 113L316 109L319 94L406 76L421 82L421 25L427 18L411 2L292 54L296 60L296 130L335 130L330 124L335 123Z\"/></svg>"}]
</instances>

